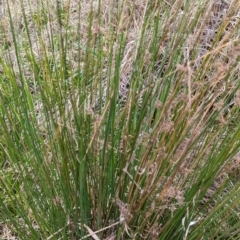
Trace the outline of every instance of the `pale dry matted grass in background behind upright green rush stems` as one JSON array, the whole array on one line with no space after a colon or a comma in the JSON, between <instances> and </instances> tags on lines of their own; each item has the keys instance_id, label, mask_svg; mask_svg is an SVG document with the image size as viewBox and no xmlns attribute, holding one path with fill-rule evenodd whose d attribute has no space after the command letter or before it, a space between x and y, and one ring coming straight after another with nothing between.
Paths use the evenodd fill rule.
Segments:
<instances>
[{"instance_id":1,"label":"pale dry matted grass in background behind upright green rush stems","mask_svg":"<svg viewBox=\"0 0 240 240\"><path fill-rule=\"evenodd\" d=\"M172 3L171 3L172 2ZM69 34L69 44L71 51L69 52L68 58L71 60L72 69L77 69L79 66L83 66L84 56L81 56L79 59L79 49L77 45L77 39L81 39L81 45L86 46L88 42L88 25L90 19L90 13L92 16L92 37L91 37L91 46L97 47L96 39L98 35L104 35L105 41L103 44L105 46L105 59L103 59L103 73L106 71L106 63L110 53L109 46L107 45L108 41L116 41L117 34L121 31L127 32L127 43L124 52L124 57L121 66L121 92L120 94L126 96L127 88L129 86L129 75L132 72L132 66L136 59L136 51L138 47L138 40L142 31L142 23L147 11L147 4L149 1L123 1L121 3L115 3L111 0L102 1L101 7L98 7L98 0L92 1L77 1L77 0L64 0L61 1L61 4L57 5L55 0L48 1L8 1L10 12L12 15L12 22L14 31L17 34L17 43L19 45L28 44L26 39L26 29L24 27L24 17L21 8L25 9L26 21L28 23L32 49L35 55L35 58L39 60L41 65L43 51L46 50L47 54L51 56L53 54L51 41L55 36L60 34L59 19L57 17L58 9L61 9L65 13L65 16L61 19L61 31L64 32L66 28L71 28L71 33L79 33L79 17L81 24L81 32L78 36ZM155 3L157 4L157 3ZM180 4L180 5L179 5ZM163 1L161 3L161 8L169 8L170 16L169 19L164 19L165 22L162 23L163 34L165 35L164 41L159 44L159 58L164 54L165 46L168 42L172 42L172 47L175 46L175 42L178 41L176 38L176 33L178 30L178 22L181 20L181 16L184 13L184 4L181 5L181 1ZM213 45L213 40L216 38L216 35L219 35L219 40L214 43L216 52L216 58L219 59L219 64L222 62L223 58L226 58L226 55L231 56L231 52L235 51L233 49L233 44L237 40L237 33L234 32L234 26L237 25L239 21L239 3L237 1L209 1L206 4L205 12L203 16L200 16L198 19L198 24L192 33L192 37L188 40L188 45L186 46L186 61L191 61L189 58L189 53L193 48L198 49L195 59L194 68L198 66L205 57L212 52L209 52L209 48ZM15 72L18 72L18 66L16 63L16 56L14 50L14 43L11 34L11 24L8 17L7 2L3 2L4 10L4 19L1 21L4 22L4 28L6 31L6 37L2 38L1 41L4 41L7 46L9 46L7 55L5 58L8 58L8 62L11 59L11 63L14 66ZM197 11L196 8L192 8L191 13L189 13L189 26L194 21L194 17ZM99 14L98 11L100 10ZM100 16L100 17L99 17ZM41 28L39 28L41 25ZM186 26L187 28L188 26ZM114 31L114 34L113 34ZM3 33L2 33L3 34ZM148 32L146 35L148 38L146 42L150 42L152 37L151 32ZM231 37L231 41L228 40ZM175 39L175 40L174 40ZM199 41L200 39L200 41ZM41 45L40 40L44 42L44 46ZM44 47L44 48L43 48ZM146 48L147 49L147 48ZM24 71L26 75L32 76L30 67L27 65L26 52L22 51L19 53L21 59L26 64ZM59 58L58 51L54 52L56 59ZM170 51L171 58L171 51ZM10 58L10 59L9 59ZM198 59L198 60L196 60ZM235 58L232 57L232 60ZM7 60L7 59L6 59ZM143 66L147 66L151 60L151 55L148 52L145 52L145 59ZM161 61L161 59L159 59ZM231 58L224 60L230 65ZM191 63L191 62L190 62ZM217 66L217 69L220 69ZM187 70L187 69L186 69ZM184 70L185 71L185 70ZM218 70L219 71L219 70ZM156 72L156 74L158 74ZM104 75L104 74L103 74ZM33 77L33 76L32 76ZM218 79L218 78L217 78Z\"/></svg>"}]
</instances>

